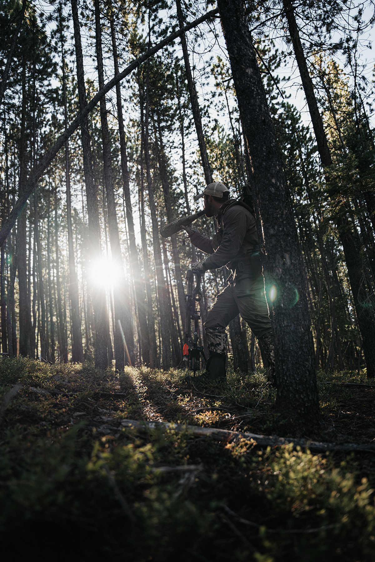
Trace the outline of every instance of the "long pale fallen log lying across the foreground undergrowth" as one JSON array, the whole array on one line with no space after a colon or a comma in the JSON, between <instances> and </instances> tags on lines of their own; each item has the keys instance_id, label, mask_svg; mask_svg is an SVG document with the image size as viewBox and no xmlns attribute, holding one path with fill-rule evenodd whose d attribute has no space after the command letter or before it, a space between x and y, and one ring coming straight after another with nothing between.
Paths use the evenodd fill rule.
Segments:
<instances>
[{"instance_id":1,"label":"long pale fallen log lying across the foreground undergrowth","mask_svg":"<svg viewBox=\"0 0 375 562\"><path fill-rule=\"evenodd\" d=\"M245 433L229 431L228 429L218 429L215 427L200 427L199 425L183 425L169 422L137 422L135 420L123 420L121 427L133 429L156 429L158 427L171 429L173 431L189 431L195 437L211 437L215 441L225 441L227 443L238 441L238 439L249 439L261 447L281 447L293 443L294 447L308 448L313 452L371 452L375 453L375 443L320 443L309 439L293 439L291 437L278 437L277 435L257 435L255 433Z\"/></svg>"}]
</instances>

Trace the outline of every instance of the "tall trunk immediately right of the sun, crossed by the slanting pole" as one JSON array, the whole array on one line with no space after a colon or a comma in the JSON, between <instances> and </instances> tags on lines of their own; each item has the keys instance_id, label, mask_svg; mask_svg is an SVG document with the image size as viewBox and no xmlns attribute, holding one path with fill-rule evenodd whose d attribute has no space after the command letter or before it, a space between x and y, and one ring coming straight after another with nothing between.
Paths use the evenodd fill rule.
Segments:
<instances>
[{"instance_id":1,"label":"tall trunk immediately right of the sun, crossed by the slanting pole","mask_svg":"<svg viewBox=\"0 0 375 562\"><path fill-rule=\"evenodd\" d=\"M99 89L104 88L102 38L100 24L99 0L94 1L95 6L95 28L96 28L96 55L98 63ZM116 371L124 371L125 345L128 348L130 364L134 364L134 336L132 324L130 323L129 293L126 287L124 275L123 257L121 255L119 228L116 214L115 192L112 178L111 147L107 121L106 99L100 100L100 120L103 145L103 169L107 194L108 227L111 242L112 260L119 271L119 282L114 284L114 312L115 312L115 364ZM126 313L125 313L126 311ZM124 339L123 339L124 338ZM128 364L126 358L126 364Z\"/></svg>"}]
</instances>

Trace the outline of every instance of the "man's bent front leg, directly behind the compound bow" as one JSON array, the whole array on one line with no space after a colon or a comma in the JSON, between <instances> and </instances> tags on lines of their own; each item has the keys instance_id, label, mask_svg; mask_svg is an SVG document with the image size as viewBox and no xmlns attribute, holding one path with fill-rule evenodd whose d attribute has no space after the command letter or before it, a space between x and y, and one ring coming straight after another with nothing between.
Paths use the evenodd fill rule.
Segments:
<instances>
[{"instance_id":1,"label":"man's bent front leg, directly behind the compound bow","mask_svg":"<svg viewBox=\"0 0 375 562\"><path fill-rule=\"evenodd\" d=\"M207 348L210 353L206 370L210 379L225 379L225 361L227 359L227 332L225 328L238 314L238 306L234 298L233 285L225 287L216 296L205 321Z\"/></svg>"}]
</instances>

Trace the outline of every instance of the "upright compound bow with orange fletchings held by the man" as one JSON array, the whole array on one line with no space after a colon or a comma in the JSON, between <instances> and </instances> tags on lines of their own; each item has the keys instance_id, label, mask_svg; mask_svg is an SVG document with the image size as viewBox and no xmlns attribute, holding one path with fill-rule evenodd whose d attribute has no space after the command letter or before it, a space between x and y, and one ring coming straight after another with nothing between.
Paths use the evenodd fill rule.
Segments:
<instances>
[{"instance_id":1,"label":"upright compound bow with orange fletchings held by the man","mask_svg":"<svg viewBox=\"0 0 375 562\"><path fill-rule=\"evenodd\" d=\"M194 276L196 276L197 284L194 285ZM185 323L185 342L183 347L183 360L189 361L189 371L193 371L195 377L196 371L200 370L200 355L206 360L203 352L203 346L198 346L198 321L201 318L201 312L198 307L202 300L201 280L202 272L194 269L188 269L185 279L187 279L187 294L186 294L186 323ZM194 333L192 334L192 321L194 322Z\"/></svg>"}]
</instances>

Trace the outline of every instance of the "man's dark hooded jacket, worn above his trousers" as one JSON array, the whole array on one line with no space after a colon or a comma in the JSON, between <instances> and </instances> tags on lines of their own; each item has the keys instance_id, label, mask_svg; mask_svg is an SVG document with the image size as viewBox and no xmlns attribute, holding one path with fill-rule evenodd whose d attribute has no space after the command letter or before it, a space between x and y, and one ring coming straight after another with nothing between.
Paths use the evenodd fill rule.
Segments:
<instances>
[{"instance_id":1,"label":"man's dark hooded jacket, worn above his trousers","mask_svg":"<svg viewBox=\"0 0 375 562\"><path fill-rule=\"evenodd\" d=\"M190 235L194 246L211 254L203 262L204 269L217 269L226 265L233 274L236 269L250 273L251 253L259 244L250 207L242 201L229 200L220 207L216 218L218 232L212 239L198 232Z\"/></svg>"}]
</instances>

